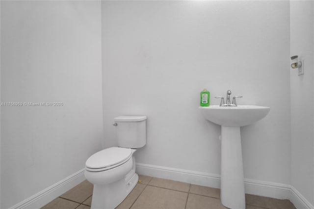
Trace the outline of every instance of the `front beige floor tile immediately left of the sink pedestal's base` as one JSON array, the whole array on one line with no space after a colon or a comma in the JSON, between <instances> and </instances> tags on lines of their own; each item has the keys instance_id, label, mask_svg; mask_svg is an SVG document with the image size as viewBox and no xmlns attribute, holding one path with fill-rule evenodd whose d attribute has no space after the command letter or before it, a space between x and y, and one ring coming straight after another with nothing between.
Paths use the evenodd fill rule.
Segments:
<instances>
[{"instance_id":1,"label":"front beige floor tile immediately left of the sink pedestal's base","mask_svg":"<svg viewBox=\"0 0 314 209\"><path fill-rule=\"evenodd\" d=\"M201 196L197 194L188 194L186 209L227 209L220 199Z\"/></svg>"}]
</instances>

